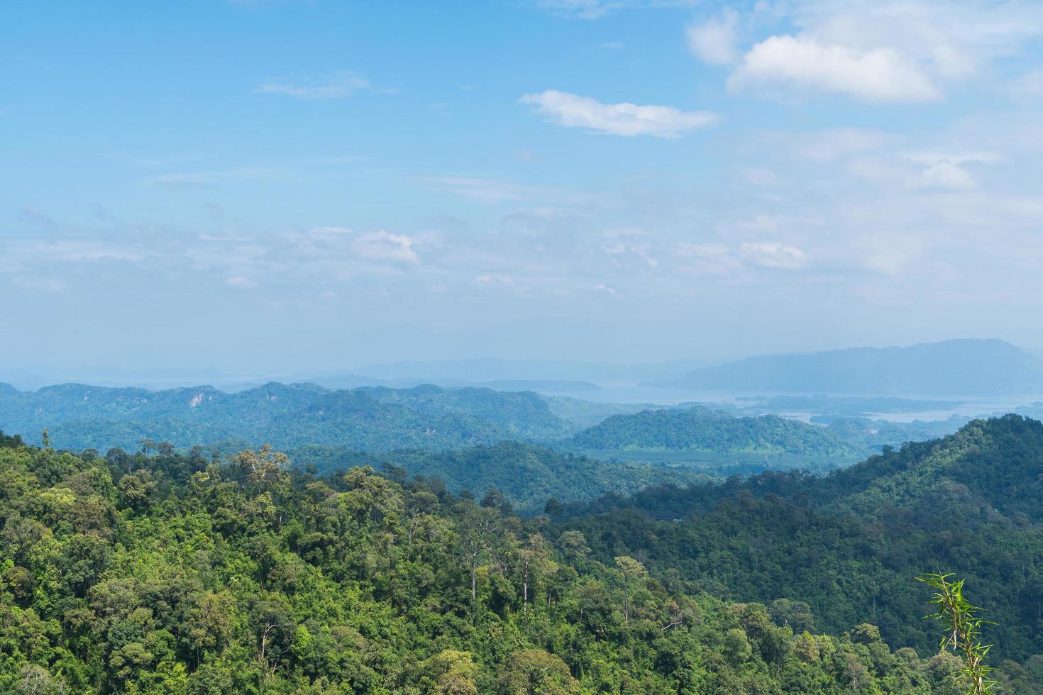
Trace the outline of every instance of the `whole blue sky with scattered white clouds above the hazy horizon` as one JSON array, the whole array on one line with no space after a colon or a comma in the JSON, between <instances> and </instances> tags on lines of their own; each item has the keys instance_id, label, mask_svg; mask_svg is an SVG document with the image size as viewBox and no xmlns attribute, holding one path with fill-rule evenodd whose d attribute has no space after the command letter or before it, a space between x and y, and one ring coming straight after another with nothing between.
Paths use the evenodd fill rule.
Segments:
<instances>
[{"instance_id":1,"label":"whole blue sky with scattered white clouds above the hazy horizon","mask_svg":"<svg viewBox=\"0 0 1043 695\"><path fill-rule=\"evenodd\" d=\"M1043 347L1039 2L10 2L4 365Z\"/></svg>"}]
</instances>

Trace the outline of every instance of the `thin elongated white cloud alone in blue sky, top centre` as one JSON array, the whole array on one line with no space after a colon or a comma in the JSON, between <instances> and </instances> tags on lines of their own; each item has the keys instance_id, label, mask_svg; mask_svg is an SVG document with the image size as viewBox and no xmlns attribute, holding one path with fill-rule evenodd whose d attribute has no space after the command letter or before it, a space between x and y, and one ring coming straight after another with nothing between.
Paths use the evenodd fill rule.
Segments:
<instances>
[{"instance_id":1,"label":"thin elongated white cloud alone in blue sky, top centre","mask_svg":"<svg viewBox=\"0 0 1043 695\"><path fill-rule=\"evenodd\" d=\"M709 111L682 111L673 106L603 104L590 97L555 90L527 94L519 102L535 106L558 125L614 135L677 138L687 130L708 126L718 119L715 114Z\"/></svg>"}]
</instances>

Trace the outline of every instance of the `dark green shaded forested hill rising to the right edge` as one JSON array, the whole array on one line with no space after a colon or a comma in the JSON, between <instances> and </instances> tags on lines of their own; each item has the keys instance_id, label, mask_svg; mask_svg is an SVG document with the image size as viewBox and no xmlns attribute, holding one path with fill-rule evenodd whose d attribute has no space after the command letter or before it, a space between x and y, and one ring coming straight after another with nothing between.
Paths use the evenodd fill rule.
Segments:
<instances>
[{"instance_id":1,"label":"dark green shaded forested hill rising to the right edge","mask_svg":"<svg viewBox=\"0 0 1043 695\"><path fill-rule=\"evenodd\" d=\"M871 605L886 640L921 649L933 638L906 618L917 610L908 577L956 572L998 623L987 628L993 654L1043 654L1043 423L1036 420L975 420L824 477L766 472L608 497L569 525L598 556L645 553L656 571L734 600L806 601L829 629L868 619Z\"/></svg>"}]
</instances>

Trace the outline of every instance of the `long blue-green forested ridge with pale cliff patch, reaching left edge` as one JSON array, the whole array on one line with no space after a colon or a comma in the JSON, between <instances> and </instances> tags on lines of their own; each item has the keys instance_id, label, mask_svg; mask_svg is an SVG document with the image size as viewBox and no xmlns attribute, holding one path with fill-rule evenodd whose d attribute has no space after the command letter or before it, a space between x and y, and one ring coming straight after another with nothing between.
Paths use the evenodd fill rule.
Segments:
<instances>
[{"instance_id":1,"label":"long blue-green forested ridge with pale cliff patch, reaching left edge","mask_svg":"<svg viewBox=\"0 0 1043 695\"><path fill-rule=\"evenodd\" d=\"M137 449L142 440L176 447L222 440L347 446L368 451L441 450L505 439L543 441L574 430L531 392L489 389L360 388L268 383L239 393L210 387L145 391L82 384L20 392L0 387L0 427L55 446Z\"/></svg>"}]
</instances>

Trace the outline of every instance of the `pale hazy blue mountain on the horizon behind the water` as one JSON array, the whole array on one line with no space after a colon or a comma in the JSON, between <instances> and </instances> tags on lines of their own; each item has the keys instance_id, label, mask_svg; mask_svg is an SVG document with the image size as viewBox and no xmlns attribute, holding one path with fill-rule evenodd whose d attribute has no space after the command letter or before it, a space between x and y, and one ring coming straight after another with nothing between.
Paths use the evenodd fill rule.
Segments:
<instances>
[{"instance_id":1,"label":"pale hazy blue mountain on the horizon behind the water","mask_svg":"<svg viewBox=\"0 0 1043 695\"><path fill-rule=\"evenodd\" d=\"M649 386L750 392L1002 396L1043 393L1043 362L999 340L747 357Z\"/></svg>"}]
</instances>

